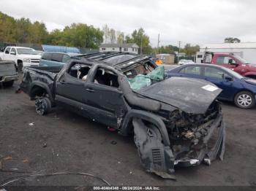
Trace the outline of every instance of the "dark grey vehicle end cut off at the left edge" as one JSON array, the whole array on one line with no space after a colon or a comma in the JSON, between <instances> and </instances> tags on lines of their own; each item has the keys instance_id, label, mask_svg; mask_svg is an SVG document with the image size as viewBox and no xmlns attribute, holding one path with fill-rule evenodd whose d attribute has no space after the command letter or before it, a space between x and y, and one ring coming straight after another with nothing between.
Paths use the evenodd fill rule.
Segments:
<instances>
[{"instance_id":1,"label":"dark grey vehicle end cut off at the left edge","mask_svg":"<svg viewBox=\"0 0 256 191\"><path fill-rule=\"evenodd\" d=\"M11 61L0 61L0 83L4 87L11 87L18 80L15 63Z\"/></svg>"}]
</instances>

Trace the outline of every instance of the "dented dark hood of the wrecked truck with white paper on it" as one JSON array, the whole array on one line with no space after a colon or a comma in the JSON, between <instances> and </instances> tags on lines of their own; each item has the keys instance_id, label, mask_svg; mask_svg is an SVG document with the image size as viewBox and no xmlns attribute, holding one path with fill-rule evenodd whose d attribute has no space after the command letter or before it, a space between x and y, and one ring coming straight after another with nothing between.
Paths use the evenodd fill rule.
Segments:
<instances>
[{"instance_id":1,"label":"dented dark hood of the wrecked truck with white paper on it","mask_svg":"<svg viewBox=\"0 0 256 191\"><path fill-rule=\"evenodd\" d=\"M221 92L219 87L203 79L171 77L137 93L187 113L204 114Z\"/></svg>"}]
</instances>

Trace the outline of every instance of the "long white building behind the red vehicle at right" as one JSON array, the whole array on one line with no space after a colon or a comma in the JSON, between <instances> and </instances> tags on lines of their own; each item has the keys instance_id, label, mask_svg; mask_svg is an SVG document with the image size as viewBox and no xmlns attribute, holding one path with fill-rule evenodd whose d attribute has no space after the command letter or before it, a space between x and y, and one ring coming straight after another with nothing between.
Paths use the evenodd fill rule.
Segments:
<instances>
[{"instance_id":1,"label":"long white building behind the red vehicle at right","mask_svg":"<svg viewBox=\"0 0 256 191\"><path fill-rule=\"evenodd\" d=\"M240 43L212 43L200 46L200 52L197 52L197 61L203 60L204 52L223 52L233 53L244 58L248 63L256 63L256 42Z\"/></svg>"}]
</instances>

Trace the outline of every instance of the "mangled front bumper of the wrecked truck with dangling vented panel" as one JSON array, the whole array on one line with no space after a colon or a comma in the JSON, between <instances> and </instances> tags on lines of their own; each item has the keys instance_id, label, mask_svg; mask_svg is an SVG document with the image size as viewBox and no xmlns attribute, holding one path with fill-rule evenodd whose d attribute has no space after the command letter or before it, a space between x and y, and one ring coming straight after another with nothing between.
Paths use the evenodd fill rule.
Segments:
<instances>
[{"instance_id":1,"label":"mangled front bumper of the wrecked truck with dangling vented panel","mask_svg":"<svg viewBox=\"0 0 256 191\"><path fill-rule=\"evenodd\" d=\"M140 160L146 171L155 173L165 179L176 179L175 165L195 166L204 162L208 165L219 157L223 160L225 152L225 122L219 114L207 127L207 134L195 147L184 146L183 152L176 152L173 146L162 141L157 128L148 126L138 118L132 121L135 131L135 144L138 147Z\"/></svg>"}]
</instances>

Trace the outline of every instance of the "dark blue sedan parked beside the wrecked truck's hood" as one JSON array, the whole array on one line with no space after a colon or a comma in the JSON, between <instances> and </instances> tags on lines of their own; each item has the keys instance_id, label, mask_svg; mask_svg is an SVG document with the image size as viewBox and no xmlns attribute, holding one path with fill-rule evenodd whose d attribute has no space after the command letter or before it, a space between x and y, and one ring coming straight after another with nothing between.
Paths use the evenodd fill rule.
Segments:
<instances>
[{"instance_id":1,"label":"dark blue sedan parked beside the wrecked truck's hood","mask_svg":"<svg viewBox=\"0 0 256 191\"><path fill-rule=\"evenodd\" d=\"M222 89L218 99L233 101L236 106L249 109L255 106L256 80L222 66L192 64L167 71L167 77L192 77L206 79Z\"/></svg>"}]
</instances>

